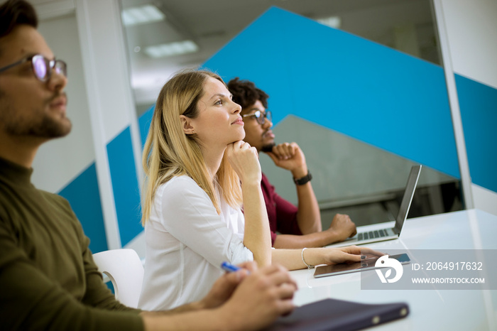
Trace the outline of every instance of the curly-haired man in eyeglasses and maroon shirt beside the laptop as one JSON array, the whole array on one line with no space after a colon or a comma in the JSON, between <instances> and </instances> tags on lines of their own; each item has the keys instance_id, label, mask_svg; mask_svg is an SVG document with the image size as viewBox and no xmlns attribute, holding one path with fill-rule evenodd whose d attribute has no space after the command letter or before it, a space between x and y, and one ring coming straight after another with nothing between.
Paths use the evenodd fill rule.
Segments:
<instances>
[{"instance_id":1,"label":"curly-haired man in eyeglasses and maroon shirt beside the laptop","mask_svg":"<svg viewBox=\"0 0 497 331\"><path fill-rule=\"evenodd\" d=\"M320 247L341 242L356 234L356 225L348 215L337 214L329 229L322 231L320 207L310 183L305 155L297 143L275 144L271 131L268 94L249 80L239 77L228 82L233 101L241 106L245 139L258 152L267 153L275 165L289 170L297 188L298 207L280 197L268 178L262 174L261 188L268 210L271 240L278 249ZM277 233L278 232L278 233Z\"/></svg>"}]
</instances>

